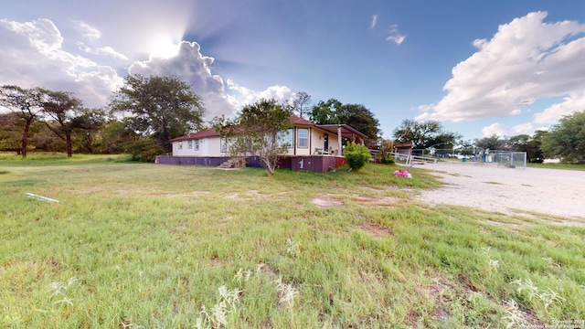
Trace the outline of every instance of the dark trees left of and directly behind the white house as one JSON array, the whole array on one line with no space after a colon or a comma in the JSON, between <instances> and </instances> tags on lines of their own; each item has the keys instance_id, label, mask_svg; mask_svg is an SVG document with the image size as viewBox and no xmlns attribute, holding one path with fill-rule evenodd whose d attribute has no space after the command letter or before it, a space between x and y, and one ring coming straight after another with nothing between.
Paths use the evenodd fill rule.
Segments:
<instances>
[{"instance_id":1,"label":"dark trees left of and directly behind the white house","mask_svg":"<svg viewBox=\"0 0 585 329\"><path fill-rule=\"evenodd\" d=\"M260 105L260 100L256 105ZM379 122L359 104L320 101L311 107L311 96L298 92L282 108L316 123L344 123L366 133L374 146ZM203 122L205 106L184 80L174 77L129 75L112 93L106 108L90 109L67 91L0 86L0 151L27 157L29 151L118 154L133 160L152 161L156 154L170 154L173 138L209 127ZM240 113L241 114L241 111ZM288 118L287 118L288 120Z\"/></svg>"}]
</instances>

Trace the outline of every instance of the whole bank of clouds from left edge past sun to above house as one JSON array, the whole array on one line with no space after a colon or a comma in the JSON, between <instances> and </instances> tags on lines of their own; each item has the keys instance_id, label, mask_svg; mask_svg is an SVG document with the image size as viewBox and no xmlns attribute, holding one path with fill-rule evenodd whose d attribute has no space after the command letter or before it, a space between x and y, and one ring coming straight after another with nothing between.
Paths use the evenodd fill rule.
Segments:
<instances>
[{"instance_id":1,"label":"whole bank of clouds from left edge past sun to above house","mask_svg":"<svg viewBox=\"0 0 585 329\"><path fill-rule=\"evenodd\" d=\"M289 101L293 97L285 86L258 91L231 80L225 82L212 73L214 58L202 55L196 42L158 42L165 48L158 49L159 53L143 54L148 56L145 60L129 59L103 45L98 29L81 22L75 24L81 34L78 40L67 40L69 45L77 46L68 50L59 28L49 19L25 23L0 20L0 62L11 63L0 66L0 85L70 91L88 107L104 107L112 91L122 86L121 74L175 76L189 82L202 98L205 120L222 114L232 116L243 105L263 98Z\"/></svg>"}]
</instances>

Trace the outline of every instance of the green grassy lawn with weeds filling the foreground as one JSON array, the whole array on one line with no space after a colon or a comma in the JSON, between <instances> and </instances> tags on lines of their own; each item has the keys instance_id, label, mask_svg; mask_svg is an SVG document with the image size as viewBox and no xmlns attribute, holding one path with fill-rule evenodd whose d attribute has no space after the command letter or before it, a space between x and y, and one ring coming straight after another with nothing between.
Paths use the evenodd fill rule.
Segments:
<instances>
[{"instance_id":1,"label":"green grassy lawn with weeds filling the foreground","mask_svg":"<svg viewBox=\"0 0 585 329\"><path fill-rule=\"evenodd\" d=\"M0 154L0 327L585 319L585 227L431 207L415 196L439 186L432 173L414 168L407 179L396 169L267 177L112 155Z\"/></svg>"}]
</instances>

